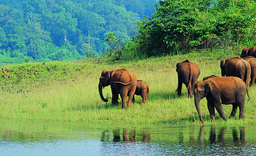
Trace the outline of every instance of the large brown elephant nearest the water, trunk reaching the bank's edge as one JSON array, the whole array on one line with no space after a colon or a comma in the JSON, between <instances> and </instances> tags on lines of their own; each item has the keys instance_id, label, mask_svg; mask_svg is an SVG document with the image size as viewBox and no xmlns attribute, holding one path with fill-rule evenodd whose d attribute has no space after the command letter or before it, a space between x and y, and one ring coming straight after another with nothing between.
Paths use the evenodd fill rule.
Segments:
<instances>
[{"instance_id":1,"label":"large brown elephant nearest the water, trunk reaching the bank's edge","mask_svg":"<svg viewBox=\"0 0 256 156\"><path fill-rule=\"evenodd\" d=\"M237 107L239 107L239 119L243 119L246 92L249 97L247 86L238 77L215 77L205 81L196 81L193 93L195 96L195 107L200 121L205 123L200 108L200 100L204 97L207 99L207 107L212 120L215 121L214 107L220 114L220 117L227 120L221 104L232 104L233 108L230 117L236 115Z\"/></svg>"}]
</instances>

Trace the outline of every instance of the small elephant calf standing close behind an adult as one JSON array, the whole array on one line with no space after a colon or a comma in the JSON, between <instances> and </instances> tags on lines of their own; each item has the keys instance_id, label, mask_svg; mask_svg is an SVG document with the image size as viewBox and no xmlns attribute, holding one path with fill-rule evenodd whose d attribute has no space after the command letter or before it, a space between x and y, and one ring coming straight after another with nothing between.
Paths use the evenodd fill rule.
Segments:
<instances>
[{"instance_id":1,"label":"small elephant calf standing close behind an adult","mask_svg":"<svg viewBox=\"0 0 256 156\"><path fill-rule=\"evenodd\" d=\"M144 103L147 102L149 96L149 87L145 81L137 80L137 87L135 90L135 95L140 95ZM134 96L132 102L135 102Z\"/></svg>"}]
</instances>

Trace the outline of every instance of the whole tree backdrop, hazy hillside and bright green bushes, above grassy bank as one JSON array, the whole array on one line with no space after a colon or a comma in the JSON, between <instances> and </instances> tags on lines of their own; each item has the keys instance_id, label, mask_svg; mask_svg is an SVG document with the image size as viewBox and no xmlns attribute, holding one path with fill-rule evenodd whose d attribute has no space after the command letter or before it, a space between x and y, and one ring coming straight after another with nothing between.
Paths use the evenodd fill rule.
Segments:
<instances>
[{"instance_id":1,"label":"whole tree backdrop, hazy hillside and bright green bushes, above grassy bank","mask_svg":"<svg viewBox=\"0 0 256 156\"><path fill-rule=\"evenodd\" d=\"M115 60L256 44L256 0L1 0L0 63Z\"/></svg>"}]
</instances>

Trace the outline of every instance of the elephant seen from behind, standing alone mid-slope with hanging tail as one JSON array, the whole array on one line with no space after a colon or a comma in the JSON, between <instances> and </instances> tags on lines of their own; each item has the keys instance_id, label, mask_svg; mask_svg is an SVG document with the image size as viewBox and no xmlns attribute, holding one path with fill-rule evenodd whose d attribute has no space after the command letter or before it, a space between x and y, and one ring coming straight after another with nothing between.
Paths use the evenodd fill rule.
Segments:
<instances>
[{"instance_id":1,"label":"elephant seen from behind, standing alone mid-slope with hanging tail","mask_svg":"<svg viewBox=\"0 0 256 156\"><path fill-rule=\"evenodd\" d=\"M189 60L185 60L176 64L176 71L178 73L178 88L176 89L178 95L181 95L182 83L184 83L187 87L188 95L192 98L192 89L200 74L199 67Z\"/></svg>"}]
</instances>

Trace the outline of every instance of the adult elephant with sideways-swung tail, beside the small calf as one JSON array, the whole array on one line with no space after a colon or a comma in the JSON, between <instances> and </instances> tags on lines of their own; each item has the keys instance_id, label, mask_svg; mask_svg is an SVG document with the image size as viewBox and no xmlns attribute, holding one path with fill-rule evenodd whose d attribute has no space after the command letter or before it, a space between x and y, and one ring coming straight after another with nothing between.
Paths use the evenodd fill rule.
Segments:
<instances>
[{"instance_id":1,"label":"adult elephant with sideways-swung tail, beside the small calf","mask_svg":"<svg viewBox=\"0 0 256 156\"><path fill-rule=\"evenodd\" d=\"M103 97L102 87L104 88L109 85L112 91L112 104L118 104L118 94L120 94L122 99L122 109L126 109L126 97L128 95L128 107L131 107L132 98L137 86L136 75L127 69L102 71L98 87L100 98L104 102L108 102L108 100Z\"/></svg>"}]
</instances>

